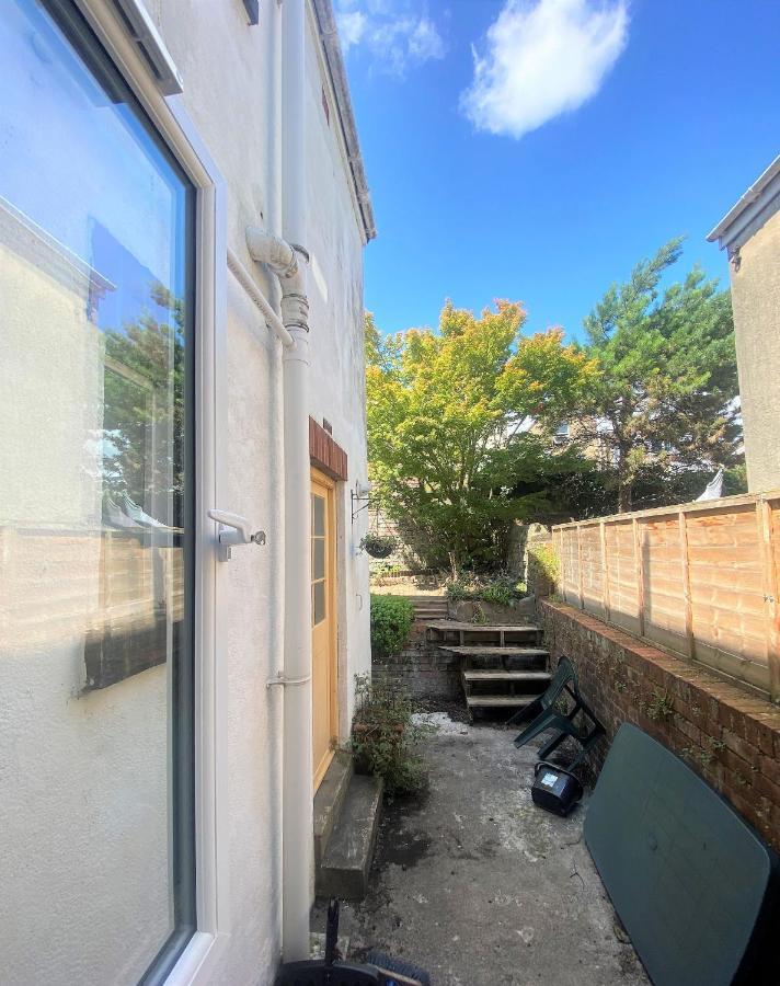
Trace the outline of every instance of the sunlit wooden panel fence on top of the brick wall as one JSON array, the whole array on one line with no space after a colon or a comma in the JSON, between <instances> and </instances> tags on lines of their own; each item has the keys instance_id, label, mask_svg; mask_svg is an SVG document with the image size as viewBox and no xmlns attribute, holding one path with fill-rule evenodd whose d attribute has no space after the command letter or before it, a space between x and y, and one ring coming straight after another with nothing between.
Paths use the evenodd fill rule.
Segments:
<instances>
[{"instance_id":1,"label":"sunlit wooden panel fence on top of the brick wall","mask_svg":"<svg viewBox=\"0 0 780 986\"><path fill-rule=\"evenodd\" d=\"M553 528L571 605L780 701L780 491Z\"/></svg>"}]
</instances>

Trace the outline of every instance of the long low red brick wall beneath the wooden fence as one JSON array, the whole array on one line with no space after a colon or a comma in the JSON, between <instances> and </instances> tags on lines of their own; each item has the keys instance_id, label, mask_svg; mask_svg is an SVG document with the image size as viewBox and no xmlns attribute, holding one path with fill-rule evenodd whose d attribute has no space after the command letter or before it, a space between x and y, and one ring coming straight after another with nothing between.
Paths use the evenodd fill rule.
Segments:
<instances>
[{"instance_id":1,"label":"long low red brick wall beneath the wooden fence","mask_svg":"<svg viewBox=\"0 0 780 986\"><path fill-rule=\"evenodd\" d=\"M623 722L650 733L719 791L780 850L780 709L712 672L578 609L542 600L555 665L566 655L609 741ZM609 743L598 744L598 770Z\"/></svg>"}]
</instances>

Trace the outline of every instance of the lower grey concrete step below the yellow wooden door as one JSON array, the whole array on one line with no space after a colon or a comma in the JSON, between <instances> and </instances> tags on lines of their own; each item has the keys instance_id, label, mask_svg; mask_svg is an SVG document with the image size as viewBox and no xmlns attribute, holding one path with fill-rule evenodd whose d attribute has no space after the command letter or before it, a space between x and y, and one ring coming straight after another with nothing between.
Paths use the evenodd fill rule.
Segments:
<instances>
[{"instance_id":1,"label":"lower grey concrete step below the yellow wooden door","mask_svg":"<svg viewBox=\"0 0 780 986\"><path fill-rule=\"evenodd\" d=\"M359 901L366 895L381 805L381 781L353 775L317 871L318 896Z\"/></svg>"}]
</instances>

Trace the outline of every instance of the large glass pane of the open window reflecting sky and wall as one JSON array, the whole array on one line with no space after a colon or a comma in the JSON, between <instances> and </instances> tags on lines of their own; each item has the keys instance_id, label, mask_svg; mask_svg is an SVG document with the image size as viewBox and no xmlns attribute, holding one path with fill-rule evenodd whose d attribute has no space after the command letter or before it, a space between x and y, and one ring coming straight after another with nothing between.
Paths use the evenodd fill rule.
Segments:
<instances>
[{"instance_id":1,"label":"large glass pane of the open window reflecting sky and wall","mask_svg":"<svg viewBox=\"0 0 780 986\"><path fill-rule=\"evenodd\" d=\"M0 64L1 961L133 984L194 922L193 188L72 4Z\"/></svg>"}]
</instances>

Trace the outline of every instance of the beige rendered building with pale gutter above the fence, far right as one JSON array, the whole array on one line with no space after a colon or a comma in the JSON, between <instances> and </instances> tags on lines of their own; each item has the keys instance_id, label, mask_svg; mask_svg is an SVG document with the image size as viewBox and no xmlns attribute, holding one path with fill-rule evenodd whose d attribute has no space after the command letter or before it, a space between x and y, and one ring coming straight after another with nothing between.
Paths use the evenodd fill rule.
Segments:
<instances>
[{"instance_id":1,"label":"beige rendered building with pale gutter above the fence, far right","mask_svg":"<svg viewBox=\"0 0 780 986\"><path fill-rule=\"evenodd\" d=\"M780 488L780 157L707 238L729 253L747 484Z\"/></svg>"}]
</instances>

